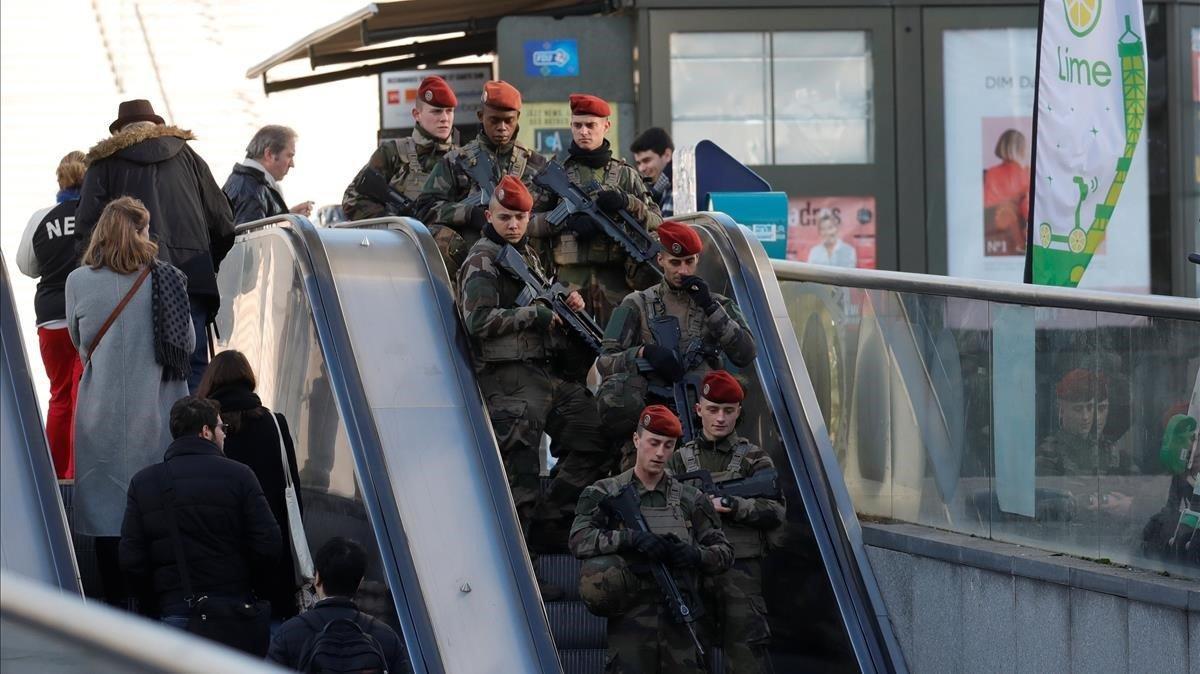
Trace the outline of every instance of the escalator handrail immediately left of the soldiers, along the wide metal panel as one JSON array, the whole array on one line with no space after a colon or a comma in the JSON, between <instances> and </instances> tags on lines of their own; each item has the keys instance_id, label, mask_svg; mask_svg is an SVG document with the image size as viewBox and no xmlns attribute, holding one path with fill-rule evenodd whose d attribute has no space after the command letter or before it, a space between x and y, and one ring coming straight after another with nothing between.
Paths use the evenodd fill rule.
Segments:
<instances>
[{"instance_id":1,"label":"escalator handrail immediately left of the soldiers, along the wide metal panel","mask_svg":"<svg viewBox=\"0 0 1200 674\"><path fill-rule=\"evenodd\" d=\"M437 243L433 242L428 229L420 221L407 217L379 217L340 222L334 228L389 229L408 236L420 248L426 271L434 279L433 289L437 295L437 306L443 309L440 312L443 330L446 335L454 336L454 350L458 355L454 362L455 377L472 419L472 433L476 439L475 446L481 450L479 455L482 459L494 512L498 516L497 525L502 531L505 553L514 571L523 571L514 573L514 579L517 583L517 592L528 620L529 633L534 642L538 661L541 664L541 672L560 673L562 664L558 660L558 649L551 634L550 619L546 615L546 608L538 590L529 555L526 553L524 537L521 532L516 506L512 503L512 494L509 489L508 474L504 471L499 444L496 441L496 434L487 416L484 396L479 390L479 384L475 381L475 373L470 366L472 356L467 332L462 326L462 321L458 320L457 303L451 290L450 277L445 264L442 261L442 253L438 251Z\"/></svg>"}]
</instances>

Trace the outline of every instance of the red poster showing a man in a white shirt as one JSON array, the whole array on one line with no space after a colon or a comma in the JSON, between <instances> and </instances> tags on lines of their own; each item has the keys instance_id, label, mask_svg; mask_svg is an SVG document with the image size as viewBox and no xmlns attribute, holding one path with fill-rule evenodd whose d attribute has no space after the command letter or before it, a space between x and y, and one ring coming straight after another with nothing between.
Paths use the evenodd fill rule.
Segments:
<instances>
[{"instance_id":1,"label":"red poster showing a man in a white shirt","mask_svg":"<svg viewBox=\"0 0 1200 674\"><path fill-rule=\"evenodd\" d=\"M787 259L875 269L875 197L791 197Z\"/></svg>"}]
</instances>

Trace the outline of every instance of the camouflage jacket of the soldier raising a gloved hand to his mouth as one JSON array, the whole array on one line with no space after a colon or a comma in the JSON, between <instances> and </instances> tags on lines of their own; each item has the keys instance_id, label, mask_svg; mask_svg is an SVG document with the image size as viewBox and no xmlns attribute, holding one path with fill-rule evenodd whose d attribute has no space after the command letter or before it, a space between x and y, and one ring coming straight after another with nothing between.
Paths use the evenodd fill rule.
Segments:
<instances>
[{"instance_id":1,"label":"camouflage jacket of the soldier raising a gloved hand to his mouth","mask_svg":"<svg viewBox=\"0 0 1200 674\"><path fill-rule=\"evenodd\" d=\"M650 321L661 315L673 315L679 320L679 345L696 356L694 372L708 372L720 365L724 353L737 367L754 362L757 348L745 317L732 300L713 293L718 308L704 314L696 302L683 290L674 290L662 281L653 288L635 290L625 296L608 320L604 333L604 351L596 359L596 371L601 377L637 372L637 351L643 344L654 344Z\"/></svg>"}]
</instances>

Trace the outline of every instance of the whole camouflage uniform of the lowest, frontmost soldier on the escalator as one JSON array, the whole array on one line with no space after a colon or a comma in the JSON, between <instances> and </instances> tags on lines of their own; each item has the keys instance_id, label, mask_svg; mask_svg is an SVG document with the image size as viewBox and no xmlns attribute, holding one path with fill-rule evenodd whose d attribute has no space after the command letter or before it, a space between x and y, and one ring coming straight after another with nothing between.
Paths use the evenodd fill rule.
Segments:
<instances>
[{"instance_id":1,"label":"whole camouflage uniform of the lowest, frontmost soldier on the escalator","mask_svg":"<svg viewBox=\"0 0 1200 674\"><path fill-rule=\"evenodd\" d=\"M683 541L700 546L700 572L712 576L724 572L733 561L733 548L721 531L713 504L695 487L664 475L653 489L647 489L634 476L632 469L600 480L583 491L571 526L571 553L587 560L600 555L620 555L636 580L635 596L620 597L619 615L608 616L608 657L606 672L650 674L655 672L702 672L691 637L685 626L674 622L662 601L662 592L650 574L644 556L631 552L632 531L619 522L608 522L600 508L601 501L616 495L630 482L642 503L650 530L659 535L674 534ZM674 571L680 589L695 588L691 573ZM625 583L610 583L605 574L589 576L582 583L598 588L582 588L581 592L629 592ZM691 592L695 597L695 592Z\"/></svg>"}]
</instances>

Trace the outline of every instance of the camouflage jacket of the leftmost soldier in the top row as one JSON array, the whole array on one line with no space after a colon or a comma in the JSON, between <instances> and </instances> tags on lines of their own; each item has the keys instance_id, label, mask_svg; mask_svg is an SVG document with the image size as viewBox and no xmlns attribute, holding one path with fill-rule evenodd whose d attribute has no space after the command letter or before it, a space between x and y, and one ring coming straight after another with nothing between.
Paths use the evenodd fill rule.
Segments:
<instances>
[{"instance_id":1,"label":"camouflage jacket of the leftmost soldier in the top row","mask_svg":"<svg viewBox=\"0 0 1200 674\"><path fill-rule=\"evenodd\" d=\"M359 169L354 180L342 194L342 211L346 219L366 219L388 215L388 209L374 199L359 194L354 188L359 176L367 168L373 168L388 179L388 182L401 194L409 199L421 195L425 181L433 170L433 166L445 156L446 152L458 145L458 132L455 131L450 139L439 142L431 137L421 127L413 128L413 134L408 138L392 138L384 140L371 158L367 166ZM413 213L415 215L415 213Z\"/></svg>"}]
</instances>

